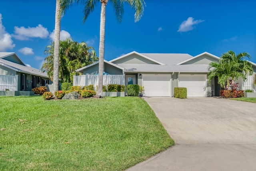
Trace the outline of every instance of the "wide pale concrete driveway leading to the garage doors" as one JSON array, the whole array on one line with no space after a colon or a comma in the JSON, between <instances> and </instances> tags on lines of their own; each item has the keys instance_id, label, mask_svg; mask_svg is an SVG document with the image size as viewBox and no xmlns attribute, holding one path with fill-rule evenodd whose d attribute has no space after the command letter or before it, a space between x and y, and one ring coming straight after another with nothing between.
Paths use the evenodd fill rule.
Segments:
<instances>
[{"instance_id":1,"label":"wide pale concrete driveway leading to the garage doors","mask_svg":"<svg viewBox=\"0 0 256 171\"><path fill-rule=\"evenodd\" d=\"M144 98L176 145L127 171L256 171L256 104Z\"/></svg>"}]
</instances>

